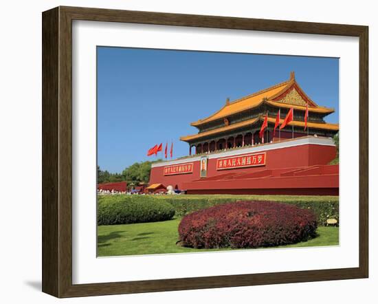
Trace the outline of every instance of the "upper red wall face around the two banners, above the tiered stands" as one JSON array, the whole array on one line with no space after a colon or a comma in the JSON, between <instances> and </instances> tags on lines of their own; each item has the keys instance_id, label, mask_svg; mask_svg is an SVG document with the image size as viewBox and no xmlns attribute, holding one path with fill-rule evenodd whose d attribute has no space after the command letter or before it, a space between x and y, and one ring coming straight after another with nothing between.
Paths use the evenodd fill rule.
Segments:
<instances>
[{"instance_id":1,"label":"upper red wall face around the two banners, above the tiered stands","mask_svg":"<svg viewBox=\"0 0 378 304\"><path fill-rule=\"evenodd\" d=\"M240 150L238 150L240 151ZM260 151L259 151L260 152ZM250 153L250 152L249 152ZM247 154L249 154L247 153ZM293 168L302 166L313 166L317 164L328 164L335 158L335 146L326 146L320 144L303 144L300 146L285 147L266 151L267 159L265 166L255 166L241 169L216 170L216 158L208 160L208 177L225 174L227 172L237 173L250 171L251 173L262 169L280 169ZM223 158L223 157L219 157ZM190 158L184 163L193 162ZM199 180L199 161L193 162L193 172L187 174L166 175L164 176L164 166L157 166L151 169L150 184L162 183L164 186L178 186L181 190L184 182ZM168 164L167 164L168 165Z\"/></svg>"}]
</instances>

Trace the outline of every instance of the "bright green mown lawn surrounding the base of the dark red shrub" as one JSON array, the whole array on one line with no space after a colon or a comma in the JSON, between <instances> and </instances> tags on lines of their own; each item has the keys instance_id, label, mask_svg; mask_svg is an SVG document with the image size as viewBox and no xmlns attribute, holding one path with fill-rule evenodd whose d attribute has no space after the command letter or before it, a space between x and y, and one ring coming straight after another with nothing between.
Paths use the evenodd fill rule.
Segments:
<instances>
[{"instance_id":1,"label":"bright green mown lawn surrounding the base of the dark red shrub","mask_svg":"<svg viewBox=\"0 0 378 304\"><path fill-rule=\"evenodd\" d=\"M98 256L205 252L219 249L193 249L177 246L180 219L155 223L98 226ZM319 227L318 237L287 247L332 246L339 243L339 228ZM230 248L221 250L231 250Z\"/></svg>"}]
</instances>

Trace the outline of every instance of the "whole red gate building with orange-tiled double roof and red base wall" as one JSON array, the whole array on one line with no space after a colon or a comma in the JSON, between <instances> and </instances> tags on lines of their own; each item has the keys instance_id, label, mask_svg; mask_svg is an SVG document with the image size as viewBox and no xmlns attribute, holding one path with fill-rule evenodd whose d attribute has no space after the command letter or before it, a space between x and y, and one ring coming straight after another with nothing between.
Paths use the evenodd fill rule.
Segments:
<instances>
[{"instance_id":1,"label":"whole red gate building with orange-tiled double roof and red base wall","mask_svg":"<svg viewBox=\"0 0 378 304\"><path fill-rule=\"evenodd\" d=\"M293 121L274 131L293 109ZM304 116L308 110L307 128ZM150 184L187 193L338 195L339 168L333 135L338 124L325 116L334 109L321 107L304 93L291 72L289 80L225 105L191 125L198 133L180 138L189 155L154 163ZM267 116L267 128L260 128ZM192 148L195 151L192 152Z\"/></svg>"}]
</instances>

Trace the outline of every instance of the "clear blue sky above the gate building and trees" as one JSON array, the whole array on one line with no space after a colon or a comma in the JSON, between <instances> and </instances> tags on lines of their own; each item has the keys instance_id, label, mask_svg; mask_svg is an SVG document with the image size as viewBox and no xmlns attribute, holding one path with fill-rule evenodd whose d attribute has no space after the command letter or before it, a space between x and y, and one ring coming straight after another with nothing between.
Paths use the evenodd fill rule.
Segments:
<instances>
[{"instance_id":1,"label":"clear blue sky above the gate building and trees","mask_svg":"<svg viewBox=\"0 0 378 304\"><path fill-rule=\"evenodd\" d=\"M318 105L339 117L337 58L97 48L98 165L112 173L153 160L155 144L174 143L173 158L188 155L179 137L197 133L190 122L230 100L289 79L290 71Z\"/></svg>"}]
</instances>

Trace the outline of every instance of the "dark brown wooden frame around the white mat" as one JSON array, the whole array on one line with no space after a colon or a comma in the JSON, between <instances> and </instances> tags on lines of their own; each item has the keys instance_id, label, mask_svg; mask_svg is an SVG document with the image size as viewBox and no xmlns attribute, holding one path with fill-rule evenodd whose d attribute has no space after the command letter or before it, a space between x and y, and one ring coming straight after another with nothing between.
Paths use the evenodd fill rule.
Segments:
<instances>
[{"instance_id":1,"label":"dark brown wooden frame around the white mat","mask_svg":"<svg viewBox=\"0 0 378 304\"><path fill-rule=\"evenodd\" d=\"M72 283L72 21L111 21L258 30L359 38L359 267L158 279ZM43 281L57 297L233 287L368 277L368 27L58 7L43 12Z\"/></svg>"}]
</instances>

